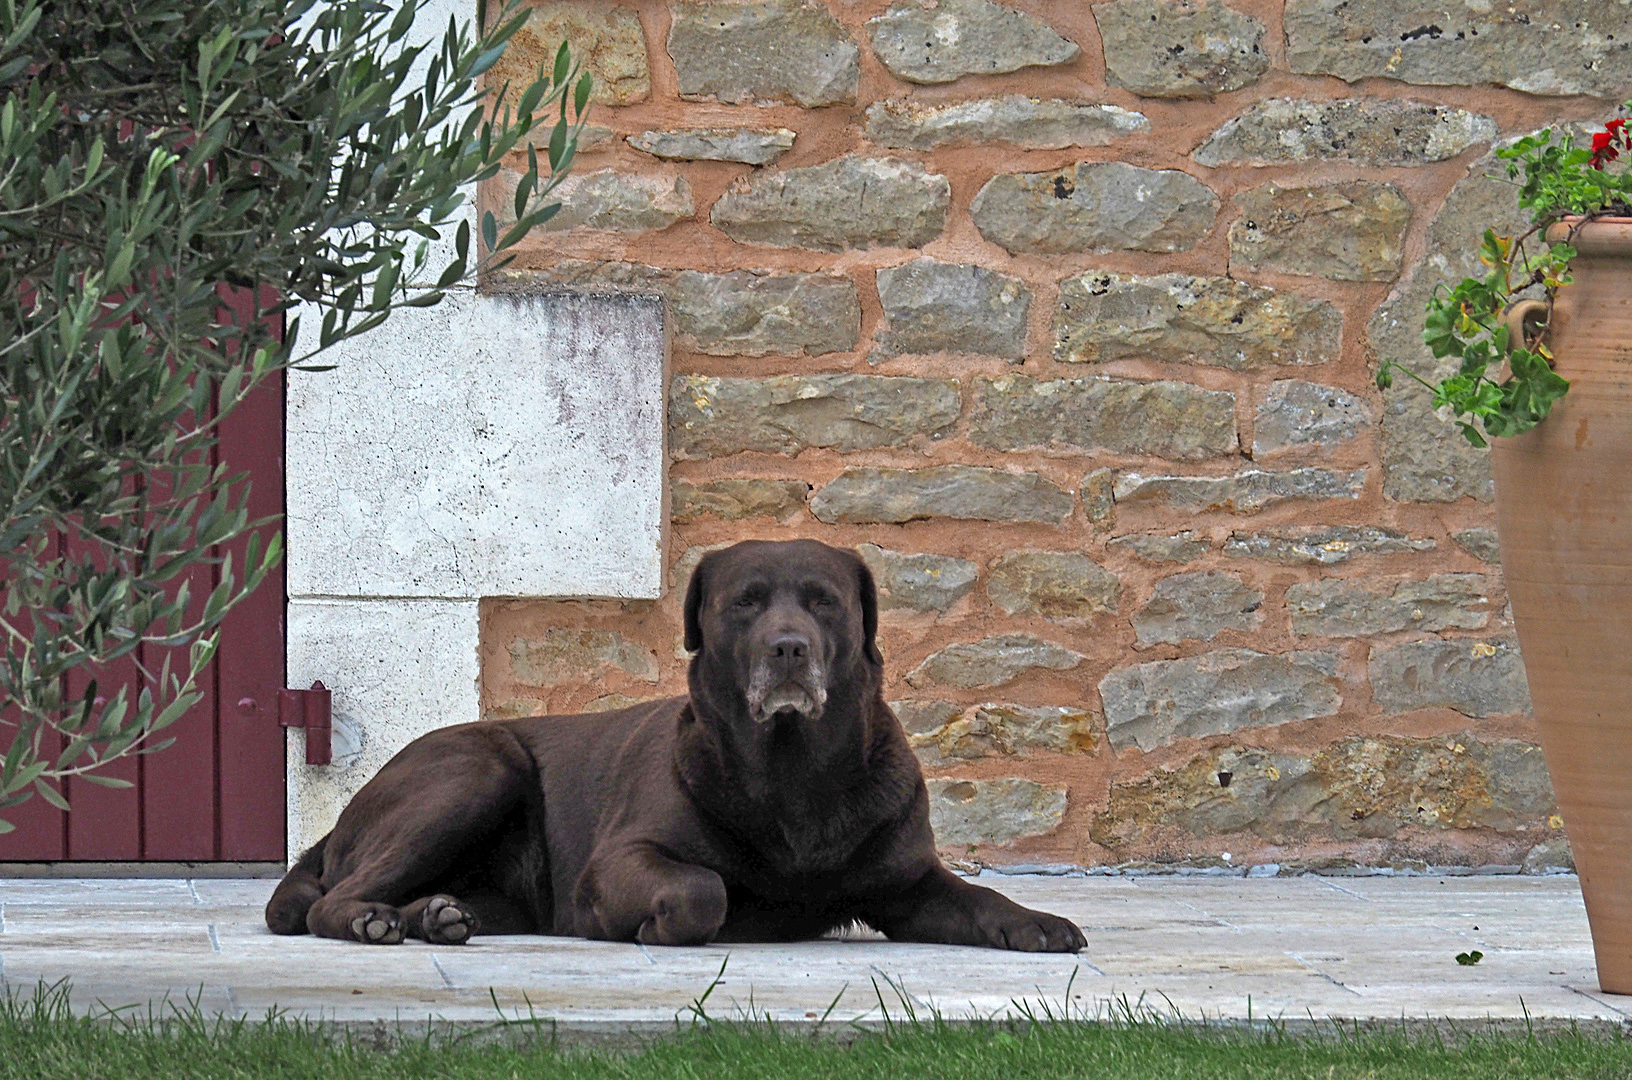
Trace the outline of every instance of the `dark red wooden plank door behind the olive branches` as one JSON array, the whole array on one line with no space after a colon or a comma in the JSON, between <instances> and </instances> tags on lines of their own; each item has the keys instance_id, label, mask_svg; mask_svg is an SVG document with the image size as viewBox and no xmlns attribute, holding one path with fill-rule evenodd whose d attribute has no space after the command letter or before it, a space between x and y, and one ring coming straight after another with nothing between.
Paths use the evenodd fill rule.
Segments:
<instances>
[{"instance_id":1,"label":"dark red wooden plank door behind the olive branches","mask_svg":"<svg viewBox=\"0 0 1632 1080\"><path fill-rule=\"evenodd\" d=\"M242 313L245 299L227 302ZM282 375L222 421L215 460L228 473L248 473L251 520L282 519ZM263 532L274 529L281 524ZM240 537L230 545L240 579L246 543ZM217 566L194 568L193 595L207 595L217 578ZM100 685L116 679L134 682L135 667L101 672ZM70 812L39 796L10 809L16 830L0 835L0 861L282 861L282 685L284 569L277 566L222 623L220 648L199 685L204 698L165 733L175 744L109 768L131 788L65 781ZM83 682L70 690L83 690Z\"/></svg>"}]
</instances>

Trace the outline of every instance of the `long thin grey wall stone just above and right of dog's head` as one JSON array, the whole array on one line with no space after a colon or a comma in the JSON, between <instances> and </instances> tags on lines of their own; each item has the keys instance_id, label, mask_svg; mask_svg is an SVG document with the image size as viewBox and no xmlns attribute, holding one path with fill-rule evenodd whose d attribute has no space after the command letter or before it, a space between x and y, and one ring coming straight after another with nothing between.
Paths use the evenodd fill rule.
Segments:
<instances>
[{"instance_id":1,"label":"long thin grey wall stone just above and right of dog's head","mask_svg":"<svg viewBox=\"0 0 1632 1080\"><path fill-rule=\"evenodd\" d=\"M1058 525L1071 514L1071 493L1036 473L974 465L847 468L816 493L811 512L827 525L924 517Z\"/></svg>"}]
</instances>

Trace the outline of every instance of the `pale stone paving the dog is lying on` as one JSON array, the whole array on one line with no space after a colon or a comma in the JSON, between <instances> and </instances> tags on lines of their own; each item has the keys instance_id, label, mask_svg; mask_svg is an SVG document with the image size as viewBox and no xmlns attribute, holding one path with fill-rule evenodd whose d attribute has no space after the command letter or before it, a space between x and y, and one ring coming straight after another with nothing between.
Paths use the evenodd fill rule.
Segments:
<instances>
[{"instance_id":1,"label":"pale stone paving the dog is lying on","mask_svg":"<svg viewBox=\"0 0 1632 1080\"><path fill-rule=\"evenodd\" d=\"M1188 1018L1523 1020L1632 1025L1604 995L1575 878L1017 878L1013 899L1074 918L1079 956L896 945L645 948L545 936L369 948L277 938L273 881L0 879L0 985L69 979L82 1010L194 998L336 1021L656 1029L718 979L710 1015L876 1023L880 995L948 1018L1046 1003ZM1457 953L1485 959L1459 966ZM721 964L725 971L721 974ZM1069 998L1067 998L1069 994ZM498 1005L498 1008L494 1007Z\"/></svg>"}]
</instances>

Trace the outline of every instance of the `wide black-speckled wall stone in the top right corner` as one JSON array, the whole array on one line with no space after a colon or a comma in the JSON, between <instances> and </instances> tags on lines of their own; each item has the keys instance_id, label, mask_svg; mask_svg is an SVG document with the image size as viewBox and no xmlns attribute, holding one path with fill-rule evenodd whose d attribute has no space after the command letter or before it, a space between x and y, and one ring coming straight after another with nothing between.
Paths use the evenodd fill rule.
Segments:
<instances>
[{"instance_id":1,"label":"wide black-speckled wall stone in the top right corner","mask_svg":"<svg viewBox=\"0 0 1632 1080\"><path fill-rule=\"evenodd\" d=\"M1428 86L1497 83L1534 95L1632 95L1632 8L1617 0L1288 0L1299 75Z\"/></svg>"}]
</instances>

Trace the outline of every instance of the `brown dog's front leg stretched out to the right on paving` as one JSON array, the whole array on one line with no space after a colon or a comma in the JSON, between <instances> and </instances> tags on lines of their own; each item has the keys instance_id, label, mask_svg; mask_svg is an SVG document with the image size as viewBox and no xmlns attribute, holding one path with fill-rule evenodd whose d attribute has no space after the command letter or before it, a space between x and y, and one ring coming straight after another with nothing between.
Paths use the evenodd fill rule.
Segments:
<instances>
[{"instance_id":1,"label":"brown dog's front leg stretched out to the right on paving","mask_svg":"<svg viewBox=\"0 0 1632 1080\"><path fill-rule=\"evenodd\" d=\"M1075 923L1020 907L935 866L916 884L871 904L867 925L893 941L984 945L1023 953L1075 953L1087 938Z\"/></svg>"}]
</instances>

